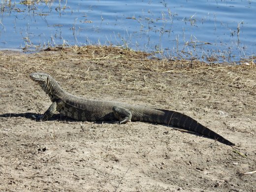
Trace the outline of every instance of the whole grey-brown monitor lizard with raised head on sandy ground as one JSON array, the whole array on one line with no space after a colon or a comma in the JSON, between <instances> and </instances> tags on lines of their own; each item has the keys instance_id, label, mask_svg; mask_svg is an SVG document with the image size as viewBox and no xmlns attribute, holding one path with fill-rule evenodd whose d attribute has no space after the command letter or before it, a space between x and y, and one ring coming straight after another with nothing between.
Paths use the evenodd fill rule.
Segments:
<instances>
[{"instance_id":1,"label":"whole grey-brown monitor lizard with raised head on sandy ground","mask_svg":"<svg viewBox=\"0 0 256 192\"><path fill-rule=\"evenodd\" d=\"M191 117L176 111L73 96L64 91L47 73L36 72L32 73L30 77L39 83L53 102L41 120L47 120L58 111L67 117L80 121L119 120L120 124L130 121L151 122L184 128L216 139L226 145L235 145Z\"/></svg>"}]
</instances>

